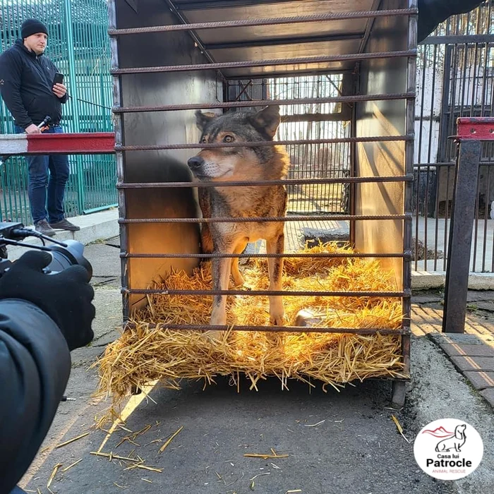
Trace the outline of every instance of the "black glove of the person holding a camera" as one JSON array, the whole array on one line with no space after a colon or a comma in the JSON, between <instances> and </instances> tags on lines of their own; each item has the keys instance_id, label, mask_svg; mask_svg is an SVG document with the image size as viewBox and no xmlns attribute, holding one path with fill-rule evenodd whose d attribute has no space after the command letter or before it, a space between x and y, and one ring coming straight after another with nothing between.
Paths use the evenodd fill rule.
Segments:
<instances>
[{"instance_id":1,"label":"black glove of the person holding a camera","mask_svg":"<svg viewBox=\"0 0 494 494\"><path fill-rule=\"evenodd\" d=\"M56 275L46 275L42 269L51 262L52 256L44 251L23 254L0 278L0 299L34 303L58 325L72 351L95 336L91 329L95 291L84 267L71 266Z\"/></svg>"}]
</instances>

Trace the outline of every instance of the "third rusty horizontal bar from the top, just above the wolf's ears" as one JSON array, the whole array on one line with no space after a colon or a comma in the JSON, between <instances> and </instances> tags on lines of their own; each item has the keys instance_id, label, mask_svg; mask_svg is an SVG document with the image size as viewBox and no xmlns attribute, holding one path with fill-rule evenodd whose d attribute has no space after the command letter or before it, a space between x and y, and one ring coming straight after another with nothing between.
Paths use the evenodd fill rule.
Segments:
<instances>
[{"instance_id":1,"label":"third rusty horizontal bar from the top, just above the wolf's ears","mask_svg":"<svg viewBox=\"0 0 494 494\"><path fill-rule=\"evenodd\" d=\"M138 112L171 112L176 110L251 108L289 104L354 103L363 101L407 100L409 98L415 98L415 92L390 92L382 95L352 95L325 98L296 98L293 100L258 100L255 102L255 104L253 104L252 101L231 101L215 103L164 104L162 106L153 107L113 107L112 111L116 114Z\"/></svg>"}]
</instances>

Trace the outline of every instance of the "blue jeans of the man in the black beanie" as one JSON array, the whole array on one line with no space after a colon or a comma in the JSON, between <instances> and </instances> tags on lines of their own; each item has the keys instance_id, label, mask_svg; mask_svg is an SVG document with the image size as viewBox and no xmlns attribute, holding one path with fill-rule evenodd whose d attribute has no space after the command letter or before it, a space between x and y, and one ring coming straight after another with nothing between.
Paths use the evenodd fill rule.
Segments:
<instances>
[{"instance_id":1,"label":"blue jeans of the man in the black beanie","mask_svg":"<svg viewBox=\"0 0 494 494\"><path fill-rule=\"evenodd\" d=\"M17 133L23 133L16 126ZM49 127L44 133L63 133L60 126ZM28 195L31 215L36 224L41 219L49 223L64 219L64 195L68 180L67 155L27 155L29 185ZM48 211L47 211L48 210Z\"/></svg>"}]
</instances>

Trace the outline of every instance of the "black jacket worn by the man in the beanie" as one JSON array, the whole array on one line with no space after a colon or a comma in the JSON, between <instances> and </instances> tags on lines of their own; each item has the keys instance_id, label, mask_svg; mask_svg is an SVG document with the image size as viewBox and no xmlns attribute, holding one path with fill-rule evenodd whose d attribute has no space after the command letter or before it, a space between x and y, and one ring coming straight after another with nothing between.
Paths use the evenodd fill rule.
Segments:
<instances>
[{"instance_id":1,"label":"black jacket worn by the man in the beanie","mask_svg":"<svg viewBox=\"0 0 494 494\"><path fill-rule=\"evenodd\" d=\"M1 54L0 93L18 126L38 125L47 115L52 117L52 123L59 123L61 103L66 102L67 95L54 95L56 71L51 60L30 52L23 40L17 40Z\"/></svg>"}]
</instances>

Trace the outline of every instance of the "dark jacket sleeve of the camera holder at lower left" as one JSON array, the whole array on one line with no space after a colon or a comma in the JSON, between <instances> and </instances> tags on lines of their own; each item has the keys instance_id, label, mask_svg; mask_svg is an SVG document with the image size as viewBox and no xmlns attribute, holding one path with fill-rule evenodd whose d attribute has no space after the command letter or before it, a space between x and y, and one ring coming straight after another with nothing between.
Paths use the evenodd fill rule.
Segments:
<instances>
[{"instance_id":1,"label":"dark jacket sleeve of the camera holder at lower left","mask_svg":"<svg viewBox=\"0 0 494 494\"><path fill-rule=\"evenodd\" d=\"M54 320L30 302L0 301L0 494L28 470L52 425L71 372Z\"/></svg>"}]
</instances>

